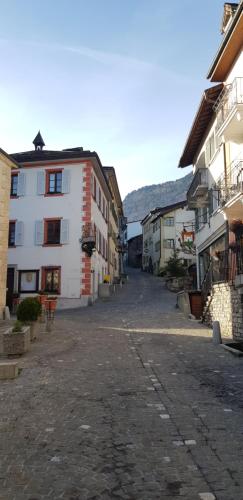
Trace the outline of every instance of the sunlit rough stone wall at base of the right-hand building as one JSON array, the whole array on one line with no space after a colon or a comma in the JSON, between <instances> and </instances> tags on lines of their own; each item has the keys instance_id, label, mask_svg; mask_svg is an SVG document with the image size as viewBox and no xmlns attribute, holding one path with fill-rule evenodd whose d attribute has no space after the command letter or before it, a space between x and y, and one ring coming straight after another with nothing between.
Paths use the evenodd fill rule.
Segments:
<instances>
[{"instance_id":1,"label":"sunlit rough stone wall at base of the right-hand building","mask_svg":"<svg viewBox=\"0 0 243 500\"><path fill-rule=\"evenodd\" d=\"M219 321L223 337L243 339L243 288L229 283L213 285L205 306L205 323Z\"/></svg>"}]
</instances>

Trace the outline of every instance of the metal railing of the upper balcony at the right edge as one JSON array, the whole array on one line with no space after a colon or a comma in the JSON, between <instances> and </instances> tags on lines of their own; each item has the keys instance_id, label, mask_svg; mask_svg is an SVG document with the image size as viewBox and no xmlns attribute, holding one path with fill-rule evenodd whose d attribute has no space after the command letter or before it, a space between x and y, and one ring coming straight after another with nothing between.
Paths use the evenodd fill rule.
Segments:
<instances>
[{"instance_id":1,"label":"metal railing of the upper balcony at the right edge","mask_svg":"<svg viewBox=\"0 0 243 500\"><path fill-rule=\"evenodd\" d=\"M243 104L243 78L240 77L235 78L230 85L226 85L214 105L217 116L216 132L237 104Z\"/></svg>"}]
</instances>

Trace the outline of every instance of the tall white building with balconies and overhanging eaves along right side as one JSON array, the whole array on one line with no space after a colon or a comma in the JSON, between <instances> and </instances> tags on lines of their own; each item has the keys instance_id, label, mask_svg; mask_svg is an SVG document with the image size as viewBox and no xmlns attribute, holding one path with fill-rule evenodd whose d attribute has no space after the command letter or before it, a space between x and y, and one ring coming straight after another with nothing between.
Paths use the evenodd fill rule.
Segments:
<instances>
[{"instance_id":1,"label":"tall white building with balconies and overhanging eaves along right side","mask_svg":"<svg viewBox=\"0 0 243 500\"><path fill-rule=\"evenodd\" d=\"M204 317L241 337L243 304L243 2L225 3L223 40L179 167L193 165L187 198L196 214Z\"/></svg>"}]
</instances>

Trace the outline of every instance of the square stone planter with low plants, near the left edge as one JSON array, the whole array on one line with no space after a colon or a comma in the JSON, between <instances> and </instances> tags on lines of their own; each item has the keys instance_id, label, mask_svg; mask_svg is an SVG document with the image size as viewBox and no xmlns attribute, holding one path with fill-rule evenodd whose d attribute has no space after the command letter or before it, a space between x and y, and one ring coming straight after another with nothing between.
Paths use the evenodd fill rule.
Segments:
<instances>
[{"instance_id":1,"label":"square stone planter with low plants, near the left edge","mask_svg":"<svg viewBox=\"0 0 243 500\"><path fill-rule=\"evenodd\" d=\"M20 355L30 349L30 327L16 321L13 327L8 328L3 334L4 354Z\"/></svg>"}]
</instances>

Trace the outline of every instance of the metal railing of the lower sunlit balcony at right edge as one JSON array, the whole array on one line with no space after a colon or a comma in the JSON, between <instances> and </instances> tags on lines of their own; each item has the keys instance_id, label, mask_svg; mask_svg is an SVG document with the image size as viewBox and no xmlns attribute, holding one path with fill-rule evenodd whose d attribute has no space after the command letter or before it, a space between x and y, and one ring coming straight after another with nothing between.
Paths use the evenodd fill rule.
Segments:
<instances>
[{"instance_id":1,"label":"metal railing of the lower sunlit balcony at right edge","mask_svg":"<svg viewBox=\"0 0 243 500\"><path fill-rule=\"evenodd\" d=\"M234 160L227 175L217 181L220 205L228 203L235 195L243 193L243 160Z\"/></svg>"}]
</instances>

